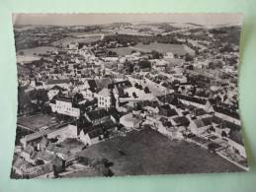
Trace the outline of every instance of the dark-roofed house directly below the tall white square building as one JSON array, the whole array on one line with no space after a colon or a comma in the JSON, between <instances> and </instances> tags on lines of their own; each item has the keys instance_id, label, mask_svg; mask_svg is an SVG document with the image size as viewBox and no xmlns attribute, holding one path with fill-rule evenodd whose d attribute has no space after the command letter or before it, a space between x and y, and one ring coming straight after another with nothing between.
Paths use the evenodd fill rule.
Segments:
<instances>
[{"instance_id":1,"label":"dark-roofed house directly below the tall white square building","mask_svg":"<svg viewBox=\"0 0 256 192\"><path fill-rule=\"evenodd\" d=\"M104 123L111 118L110 113L104 108L86 112L84 115L93 125Z\"/></svg>"}]
</instances>

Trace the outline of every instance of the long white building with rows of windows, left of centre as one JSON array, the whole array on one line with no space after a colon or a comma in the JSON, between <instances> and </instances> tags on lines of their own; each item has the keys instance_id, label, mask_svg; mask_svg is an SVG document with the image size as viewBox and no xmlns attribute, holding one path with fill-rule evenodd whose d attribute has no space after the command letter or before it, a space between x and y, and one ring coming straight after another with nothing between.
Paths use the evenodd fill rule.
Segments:
<instances>
[{"instance_id":1,"label":"long white building with rows of windows, left of centre","mask_svg":"<svg viewBox=\"0 0 256 192\"><path fill-rule=\"evenodd\" d=\"M49 103L52 112L64 114L78 118L80 116L80 109L73 106L71 97L58 97Z\"/></svg>"}]
</instances>

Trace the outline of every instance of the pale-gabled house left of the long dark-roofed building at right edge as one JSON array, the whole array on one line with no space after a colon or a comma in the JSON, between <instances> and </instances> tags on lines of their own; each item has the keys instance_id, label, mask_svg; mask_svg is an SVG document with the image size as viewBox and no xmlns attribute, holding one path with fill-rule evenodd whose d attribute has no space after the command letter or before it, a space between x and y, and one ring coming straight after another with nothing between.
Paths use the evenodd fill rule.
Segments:
<instances>
[{"instance_id":1,"label":"pale-gabled house left of the long dark-roofed building at right edge","mask_svg":"<svg viewBox=\"0 0 256 192\"><path fill-rule=\"evenodd\" d=\"M191 130L192 133L200 135L208 131L209 128L212 126L212 118L208 117L192 120L188 128Z\"/></svg>"}]
</instances>

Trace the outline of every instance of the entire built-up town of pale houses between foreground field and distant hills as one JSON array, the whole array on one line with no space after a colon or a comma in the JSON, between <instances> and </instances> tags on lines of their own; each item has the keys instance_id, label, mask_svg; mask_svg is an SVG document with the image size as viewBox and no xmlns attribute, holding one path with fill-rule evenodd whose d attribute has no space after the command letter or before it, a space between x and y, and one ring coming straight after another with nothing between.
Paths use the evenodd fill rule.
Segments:
<instances>
[{"instance_id":1,"label":"entire built-up town of pale houses between foreground field and distant hills","mask_svg":"<svg viewBox=\"0 0 256 192\"><path fill-rule=\"evenodd\" d=\"M190 62L171 52L158 59L138 51L109 57L96 54L96 46L70 43L64 50L44 54L42 65L32 65L31 74L19 78L27 94L45 90L50 116L64 118L20 139L15 173L52 176L77 160L76 153L87 146L144 127L171 140L211 148L246 166L237 82L220 78L235 73L234 66L209 74L205 69L210 63L200 56ZM67 149L68 140L77 145Z\"/></svg>"}]
</instances>

